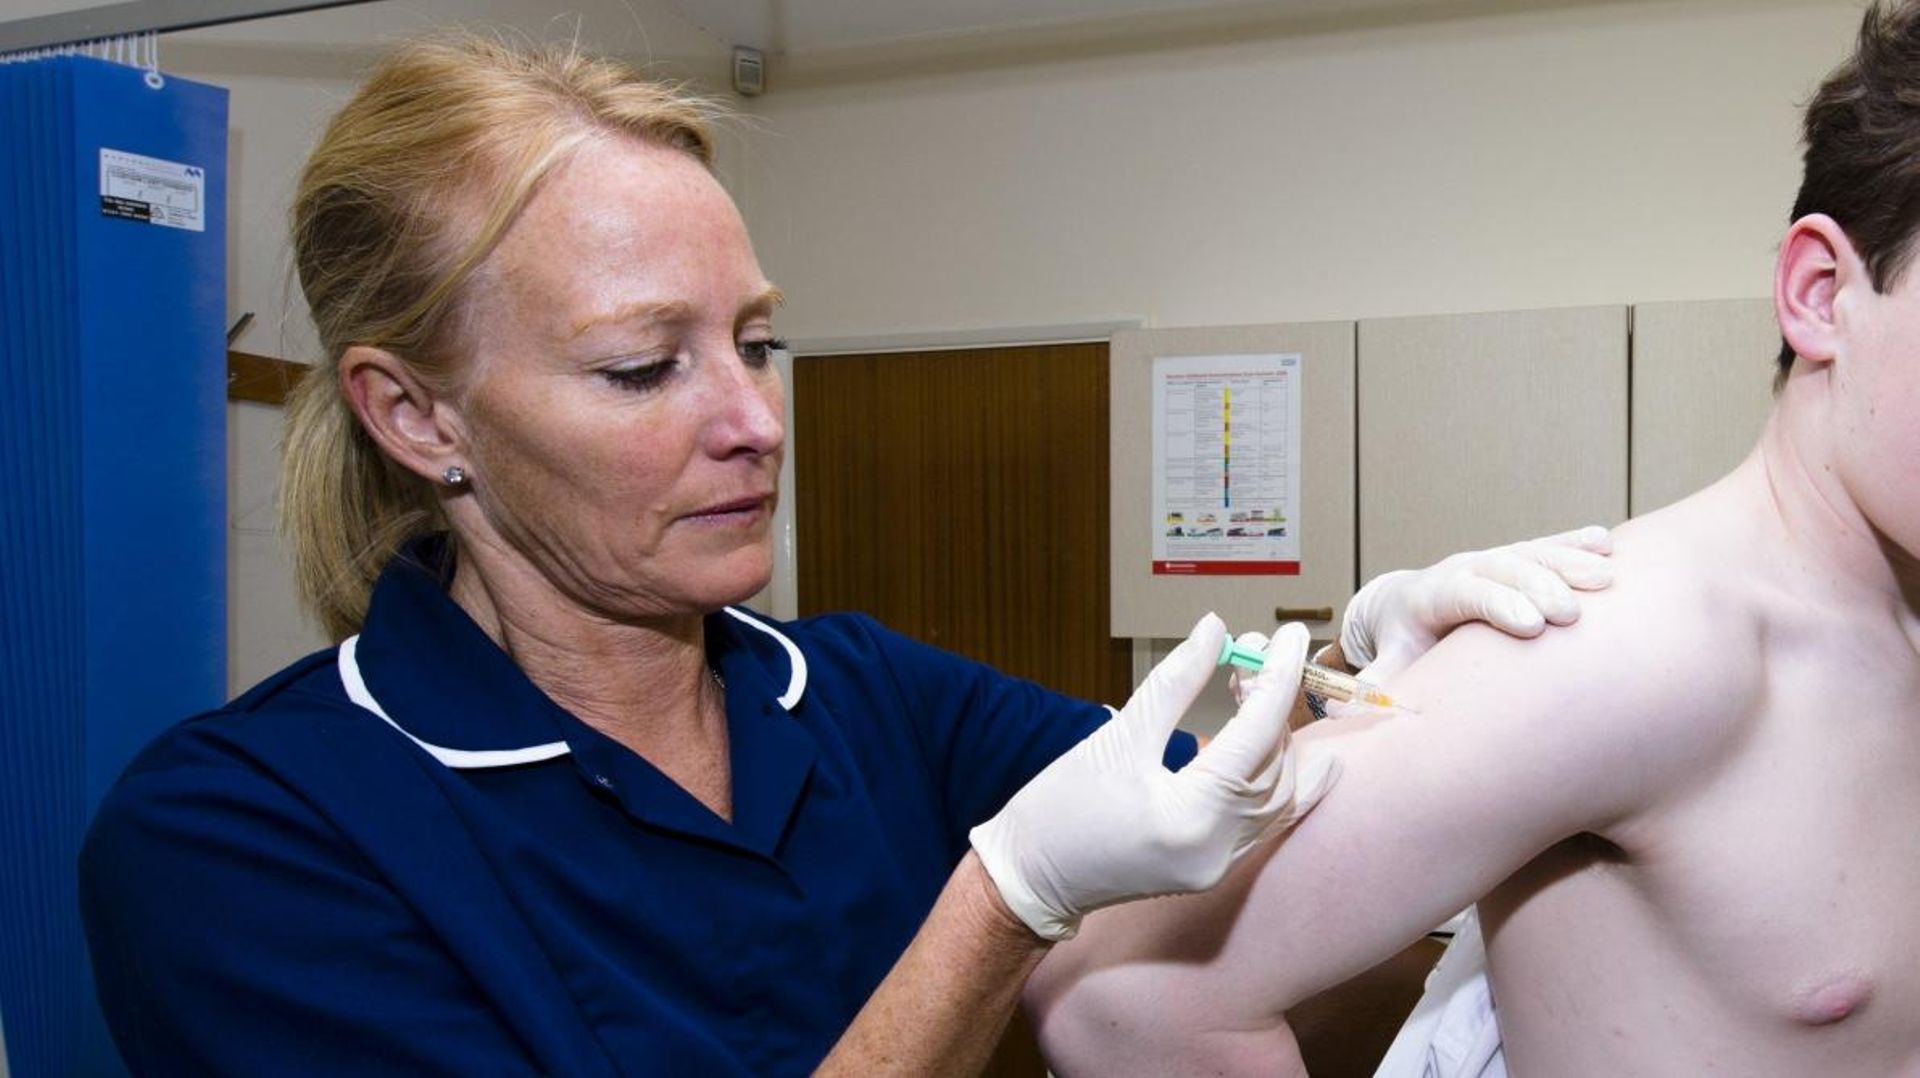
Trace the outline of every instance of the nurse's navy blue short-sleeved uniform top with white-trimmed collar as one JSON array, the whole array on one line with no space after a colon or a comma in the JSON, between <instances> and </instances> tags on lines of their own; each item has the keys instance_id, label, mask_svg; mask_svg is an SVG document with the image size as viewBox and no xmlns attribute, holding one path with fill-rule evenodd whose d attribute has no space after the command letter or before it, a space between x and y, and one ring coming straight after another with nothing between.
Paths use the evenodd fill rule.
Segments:
<instances>
[{"instance_id":1,"label":"nurse's navy blue short-sleeved uniform top with white-trimmed collar","mask_svg":"<svg viewBox=\"0 0 1920 1078\"><path fill-rule=\"evenodd\" d=\"M102 803L81 903L121 1053L150 1074L806 1072L968 830L1108 717L854 615L728 609L707 653L732 822L396 559L355 640L175 726ZM1169 765L1192 751L1177 736Z\"/></svg>"}]
</instances>

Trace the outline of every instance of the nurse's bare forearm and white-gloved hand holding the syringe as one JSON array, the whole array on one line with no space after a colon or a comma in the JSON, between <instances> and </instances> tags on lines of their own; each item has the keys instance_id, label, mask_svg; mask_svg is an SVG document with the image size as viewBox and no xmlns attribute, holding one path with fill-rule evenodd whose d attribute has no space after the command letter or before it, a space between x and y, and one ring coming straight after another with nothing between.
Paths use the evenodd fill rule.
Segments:
<instances>
[{"instance_id":1,"label":"nurse's bare forearm and white-gloved hand holding the syringe","mask_svg":"<svg viewBox=\"0 0 1920 1078\"><path fill-rule=\"evenodd\" d=\"M1298 625L1275 634L1221 734L1179 772L1162 765L1223 638L1217 617L1200 619L1112 723L973 828L973 853L818 1074L979 1070L1027 976L1085 913L1212 888L1311 811L1336 772L1300 778L1286 751L1308 648Z\"/></svg>"}]
</instances>

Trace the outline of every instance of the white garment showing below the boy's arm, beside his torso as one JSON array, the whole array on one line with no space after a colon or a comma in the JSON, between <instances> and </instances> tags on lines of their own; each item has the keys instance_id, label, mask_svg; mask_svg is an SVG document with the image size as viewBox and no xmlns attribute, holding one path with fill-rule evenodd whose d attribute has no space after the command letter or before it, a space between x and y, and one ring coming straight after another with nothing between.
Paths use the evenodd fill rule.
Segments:
<instances>
[{"instance_id":1,"label":"white garment showing below the boy's arm, beside his torso","mask_svg":"<svg viewBox=\"0 0 1920 1078\"><path fill-rule=\"evenodd\" d=\"M1480 917L1469 909L1373 1078L1507 1078Z\"/></svg>"}]
</instances>

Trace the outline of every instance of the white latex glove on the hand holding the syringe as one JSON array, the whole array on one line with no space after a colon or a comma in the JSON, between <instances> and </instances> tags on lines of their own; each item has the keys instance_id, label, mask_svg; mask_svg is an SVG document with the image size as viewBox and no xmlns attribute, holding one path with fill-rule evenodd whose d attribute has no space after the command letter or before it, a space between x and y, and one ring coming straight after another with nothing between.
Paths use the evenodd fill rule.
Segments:
<instances>
[{"instance_id":1,"label":"white latex glove on the hand holding the syringe","mask_svg":"<svg viewBox=\"0 0 1920 1078\"><path fill-rule=\"evenodd\" d=\"M1068 940L1104 905L1212 888L1332 786L1332 755L1296 782L1286 751L1308 649L1300 625L1275 634L1219 736L1179 772L1162 767L1173 726L1217 669L1225 634L1217 617L1202 617L1127 707L973 828L973 851L1000 897L1039 936Z\"/></svg>"}]
</instances>

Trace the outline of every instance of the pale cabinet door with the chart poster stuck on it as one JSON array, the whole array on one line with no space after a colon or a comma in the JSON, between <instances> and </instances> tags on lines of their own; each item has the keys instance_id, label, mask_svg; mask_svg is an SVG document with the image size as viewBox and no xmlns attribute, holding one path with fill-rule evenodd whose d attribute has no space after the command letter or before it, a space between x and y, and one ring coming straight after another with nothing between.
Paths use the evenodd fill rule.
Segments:
<instances>
[{"instance_id":1,"label":"pale cabinet door with the chart poster stuck on it","mask_svg":"<svg viewBox=\"0 0 1920 1078\"><path fill-rule=\"evenodd\" d=\"M1154 573L1154 396L1156 357L1300 355L1300 459L1286 461L1298 482L1296 575L1177 576ZM1112 352L1112 632L1181 638L1204 611L1227 628L1273 628L1275 607L1327 611L1294 615L1317 636L1338 625L1354 594L1354 323L1152 329L1114 334Z\"/></svg>"}]
</instances>

